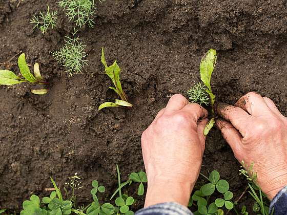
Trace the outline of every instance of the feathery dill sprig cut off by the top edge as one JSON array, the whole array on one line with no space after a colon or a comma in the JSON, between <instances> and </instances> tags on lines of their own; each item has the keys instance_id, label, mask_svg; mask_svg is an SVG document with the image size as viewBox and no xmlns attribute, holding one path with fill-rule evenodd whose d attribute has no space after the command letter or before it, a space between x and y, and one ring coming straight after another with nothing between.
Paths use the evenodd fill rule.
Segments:
<instances>
[{"instance_id":1,"label":"feathery dill sprig cut off by the top edge","mask_svg":"<svg viewBox=\"0 0 287 215\"><path fill-rule=\"evenodd\" d=\"M94 0L61 0L58 2L59 7L66 9L66 15L69 20L73 20L77 26L81 27L86 23L90 27L95 24L91 19L95 15Z\"/></svg>"}]
</instances>

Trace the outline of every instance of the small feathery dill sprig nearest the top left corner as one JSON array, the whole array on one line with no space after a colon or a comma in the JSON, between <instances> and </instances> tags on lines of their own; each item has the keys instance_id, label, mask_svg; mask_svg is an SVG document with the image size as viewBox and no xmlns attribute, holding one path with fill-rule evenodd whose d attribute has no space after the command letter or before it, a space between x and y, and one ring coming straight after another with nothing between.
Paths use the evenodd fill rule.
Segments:
<instances>
[{"instance_id":1,"label":"small feathery dill sprig nearest the top left corner","mask_svg":"<svg viewBox=\"0 0 287 215\"><path fill-rule=\"evenodd\" d=\"M46 14L43 12L40 12L39 16L34 16L31 20L30 23L35 24L34 28L40 29L43 34L46 33L46 31L51 28L53 29L56 27L56 22L57 22L57 11L52 11L50 12L49 5L47 5L48 11Z\"/></svg>"}]
</instances>

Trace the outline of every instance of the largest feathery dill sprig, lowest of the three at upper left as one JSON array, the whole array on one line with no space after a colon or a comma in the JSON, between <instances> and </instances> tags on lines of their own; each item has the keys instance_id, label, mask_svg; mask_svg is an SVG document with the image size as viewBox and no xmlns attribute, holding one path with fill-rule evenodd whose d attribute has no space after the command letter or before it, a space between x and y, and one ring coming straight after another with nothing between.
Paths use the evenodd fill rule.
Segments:
<instances>
[{"instance_id":1,"label":"largest feathery dill sprig, lowest of the three at upper left","mask_svg":"<svg viewBox=\"0 0 287 215\"><path fill-rule=\"evenodd\" d=\"M84 51L86 45L80 41L81 37L75 37L76 33L77 31L74 29L72 37L65 36L66 44L59 51L52 52L54 59L68 69L66 72L69 73L69 77L74 73L81 73L84 65L88 65L88 60L84 60L87 57Z\"/></svg>"}]
</instances>

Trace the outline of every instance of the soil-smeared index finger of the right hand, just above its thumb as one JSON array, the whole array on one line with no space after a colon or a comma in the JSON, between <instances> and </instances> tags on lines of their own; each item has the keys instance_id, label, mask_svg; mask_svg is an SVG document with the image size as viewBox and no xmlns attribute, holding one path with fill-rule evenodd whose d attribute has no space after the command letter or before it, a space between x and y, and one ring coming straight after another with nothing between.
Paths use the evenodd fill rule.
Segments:
<instances>
[{"instance_id":1,"label":"soil-smeared index finger of the right hand, just above its thumb","mask_svg":"<svg viewBox=\"0 0 287 215\"><path fill-rule=\"evenodd\" d=\"M243 137L245 136L252 120L252 116L250 116L240 107L235 107L226 103L218 103L216 109L219 116L227 121L230 121L232 125L240 132L240 134Z\"/></svg>"}]
</instances>

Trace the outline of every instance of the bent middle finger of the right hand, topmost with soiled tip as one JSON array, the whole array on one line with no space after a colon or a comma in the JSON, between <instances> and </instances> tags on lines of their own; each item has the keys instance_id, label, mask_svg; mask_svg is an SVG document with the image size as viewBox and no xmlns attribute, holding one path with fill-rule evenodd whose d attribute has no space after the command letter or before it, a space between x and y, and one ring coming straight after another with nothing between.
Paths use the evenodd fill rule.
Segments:
<instances>
[{"instance_id":1,"label":"bent middle finger of the right hand, topmost with soiled tip","mask_svg":"<svg viewBox=\"0 0 287 215\"><path fill-rule=\"evenodd\" d=\"M255 92L250 92L242 96L235 103L235 106L240 107L255 117L270 113L270 109L263 97Z\"/></svg>"}]
</instances>

